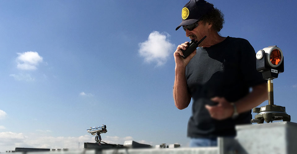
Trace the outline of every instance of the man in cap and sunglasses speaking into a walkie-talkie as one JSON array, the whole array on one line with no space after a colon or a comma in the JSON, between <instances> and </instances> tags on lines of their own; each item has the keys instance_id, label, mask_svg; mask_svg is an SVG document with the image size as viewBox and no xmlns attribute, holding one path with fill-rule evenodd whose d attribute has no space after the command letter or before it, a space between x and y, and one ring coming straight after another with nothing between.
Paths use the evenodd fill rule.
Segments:
<instances>
[{"instance_id":1,"label":"man in cap and sunglasses speaking into a walkie-talkie","mask_svg":"<svg viewBox=\"0 0 297 154\"><path fill-rule=\"evenodd\" d=\"M180 44L174 52L174 103L180 110L192 100L187 136L190 146L216 146L218 136L234 137L235 125L251 124L251 109L267 100L267 83L256 71L256 55L241 38L222 37L218 32L223 14L204 0L190 0L182 9L186 36L199 41L186 59ZM252 88L252 90L250 90Z\"/></svg>"}]
</instances>

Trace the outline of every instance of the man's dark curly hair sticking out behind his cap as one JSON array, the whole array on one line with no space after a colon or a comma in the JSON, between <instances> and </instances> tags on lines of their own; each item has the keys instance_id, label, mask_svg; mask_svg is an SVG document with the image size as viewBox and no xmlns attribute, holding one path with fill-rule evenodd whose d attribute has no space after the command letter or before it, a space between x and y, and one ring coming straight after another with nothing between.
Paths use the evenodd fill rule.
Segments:
<instances>
[{"instance_id":1,"label":"man's dark curly hair sticking out behind his cap","mask_svg":"<svg viewBox=\"0 0 297 154\"><path fill-rule=\"evenodd\" d=\"M221 10L214 8L209 13L204 14L201 17L201 20L204 22L212 23L213 30L219 32L223 28L223 24L225 23L224 14Z\"/></svg>"}]
</instances>

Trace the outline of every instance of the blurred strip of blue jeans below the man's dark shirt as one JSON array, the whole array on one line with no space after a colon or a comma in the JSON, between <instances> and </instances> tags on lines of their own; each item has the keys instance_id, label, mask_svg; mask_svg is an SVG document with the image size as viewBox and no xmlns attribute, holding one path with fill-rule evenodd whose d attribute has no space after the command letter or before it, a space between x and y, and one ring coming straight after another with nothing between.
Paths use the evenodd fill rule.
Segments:
<instances>
[{"instance_id":1,"label":"blurred strip of blue jeans below the man's dark shirt","mask_svg":"<svg viewBox=\"0 0 297 154\"><path fill-rule=\"evenodd\" d=\"M190 147L215 147L217 138L191 138Z\"/></svg>"}]
</instances>

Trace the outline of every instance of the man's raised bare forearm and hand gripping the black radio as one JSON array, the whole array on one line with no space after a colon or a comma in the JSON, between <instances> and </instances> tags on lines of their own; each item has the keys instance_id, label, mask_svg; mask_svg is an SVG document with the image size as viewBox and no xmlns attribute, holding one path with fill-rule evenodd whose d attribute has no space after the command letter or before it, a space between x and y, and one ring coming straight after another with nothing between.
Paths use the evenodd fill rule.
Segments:
<instances>
[{"instance_id":1,"label":"man's raised bare forearm and hand gripping the black radio","mask_svg":"<svg viewBox=\"0 0 297 154\"><path fill-rule=\"evenodd\" d=\"M180 49L186 50L187 43L185 42L179 45L174 52L174 60L175 60L175 80L173 87L173 98L175 106L182 110L191 102L191 95L187 89L187 80L186 80L186 66L190 62L190 60L196 55L196 50L193 51L186 59L183 59L183 52Z\"/></svg>"}]
</instances>

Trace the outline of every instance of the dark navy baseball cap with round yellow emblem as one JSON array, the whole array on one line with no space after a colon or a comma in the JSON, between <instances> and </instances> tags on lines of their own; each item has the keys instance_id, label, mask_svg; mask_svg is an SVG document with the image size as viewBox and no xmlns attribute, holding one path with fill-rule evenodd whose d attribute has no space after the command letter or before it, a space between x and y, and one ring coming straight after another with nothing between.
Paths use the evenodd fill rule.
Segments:
<instances>
[{"instance_id":1,"label":"dark navy baseball cap with round yellow emblem","mask_svg":"<svg viewBox=\"0 0 297 154\"><path fill-rule=\"evenodd\" d=\"M204 14L213 10L213 4L204 0L190 0L182 9L182 23L176 27L178 30L181 26L191 25L201 19Z\"/></svg>"}]
</instances>

